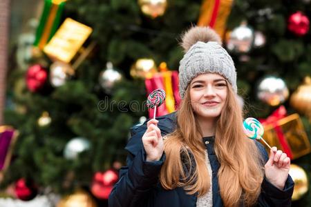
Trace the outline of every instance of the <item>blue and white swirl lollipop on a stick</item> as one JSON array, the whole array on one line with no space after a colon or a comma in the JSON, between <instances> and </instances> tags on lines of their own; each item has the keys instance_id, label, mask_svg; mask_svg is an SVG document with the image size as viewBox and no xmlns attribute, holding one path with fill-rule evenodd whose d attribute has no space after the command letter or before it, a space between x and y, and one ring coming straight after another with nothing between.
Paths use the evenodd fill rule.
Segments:
<instances>
[{"instance_id":1,"label":"blue and white swirl lollipop on a stick","mask_svg":"<svg viewBox=\"0 0 311 207\"><path fill-rule=\"evenodd\" d=\"M270 145L263 139L263 125L257 119L253 117L245 119L243 121L243 130L249 139L261 139L271 149Z\"/></svg>"}]
</instances>

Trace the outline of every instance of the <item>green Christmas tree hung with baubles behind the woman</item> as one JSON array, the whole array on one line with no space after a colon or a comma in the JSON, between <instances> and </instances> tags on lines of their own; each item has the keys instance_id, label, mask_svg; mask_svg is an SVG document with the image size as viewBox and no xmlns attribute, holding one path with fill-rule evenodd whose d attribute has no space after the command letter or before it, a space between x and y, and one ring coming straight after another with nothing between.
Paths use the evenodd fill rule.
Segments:
<instances>
[{"instance_id":1,"label":"green Christmas tree hung with baubles behind the woman","mask_svg":"<svg viewBox=\"0 0 311 207\"><path fill-rule=\"evenodd\" d=\"M55 59L57 54L53 57L44 49L47 40L40 48L42 35L25 64L14 64L12 58L16 67L8 74L8 99L12 103L5 111L5 121L19 135L1 186L23 178L40 190L49 188L65 195L77 188L92 189L94 179L101 175L98 173L124 165L130 128L148 117L143 107L148 95L145 79L156 70L153 66L144 72L135 66L136 61L153 59L156 66L166 63L169 70L178 70L182 58L178 35L197 23L218 27L223 46L236 65L245 117L267 119L276 110L279 113L272 122L277 123L299 113L300 118L288 122L302 120L303 128L299 124L288 126L281 135L270 132L267 139L295 139L291 138L292 130L302 130L305 137L299 144L303 146L294 149L286 140L280 146L288 146L292 163L310 177L310 98L299 95L305 80L308 89L303 92L311 96L310 1L236 0L220 3L218 8L211 1L163 0L153 7L147 2L61 3L56 29L70 18L92 30L83 50L72 61L61 63ZM205 15L209 19L204 19ZM45 28L41 25L43 17L35 27L36 38L38 28ZM53 38L56 29L46 35ZM61 68L61 75L57 68ZM138 103L136 110L133 102ZM280 106L286 111L283 108L280 112ZM269 121L265 121L269 128ZM284 130L280 124L270 131L275 127ZM305 153L296 155L297 148ZM308 189L310 183L304 187ZM310 198L310 192L303 193L293 204L310 206Z\"/></svg>"}]
</instances>

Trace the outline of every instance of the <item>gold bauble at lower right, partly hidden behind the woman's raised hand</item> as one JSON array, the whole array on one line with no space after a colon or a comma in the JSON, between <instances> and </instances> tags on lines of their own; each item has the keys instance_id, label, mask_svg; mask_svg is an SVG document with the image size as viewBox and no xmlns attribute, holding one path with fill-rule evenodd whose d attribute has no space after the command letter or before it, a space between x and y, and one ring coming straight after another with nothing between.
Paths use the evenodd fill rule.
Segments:
<instances>
[{"instance_id":1,"label":"gold bauble at lower right, partly hidden behind the woman's raised hand","mask_svg":"<svg viewBox=\"0 0 311 207\"><path fill-rule=\"evenodd\" d=\"M292 200L296 201L301 199L308 191L309 182L305 170L295 164L290 165L290 176L292 177L294 185L294 193L292 194Z\"/></svg>"}]
</instances>

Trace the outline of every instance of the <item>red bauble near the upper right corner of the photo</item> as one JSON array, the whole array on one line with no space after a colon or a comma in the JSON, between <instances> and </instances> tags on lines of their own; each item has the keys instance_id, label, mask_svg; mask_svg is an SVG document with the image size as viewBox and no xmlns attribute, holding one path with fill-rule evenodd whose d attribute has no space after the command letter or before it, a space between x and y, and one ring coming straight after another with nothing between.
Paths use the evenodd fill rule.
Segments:
<instances>
[{"instance_id":1,"label":"red bauble near the upper right corner of the photo","mask_svg":"<svg viewBox=\"0 0 311 207\"><path fill-rule=\"evenodd\" d=\"M288 19L288 30L297 36L305 35L309 30L310 21L302 12L296 12L290 15Z\"/></svg>"}]
</instances>

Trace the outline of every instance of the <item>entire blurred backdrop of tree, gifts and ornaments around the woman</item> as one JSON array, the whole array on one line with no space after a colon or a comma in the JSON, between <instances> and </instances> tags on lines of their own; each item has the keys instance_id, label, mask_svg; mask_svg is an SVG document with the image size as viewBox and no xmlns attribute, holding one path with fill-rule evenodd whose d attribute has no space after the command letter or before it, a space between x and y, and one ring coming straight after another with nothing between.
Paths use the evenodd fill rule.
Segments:
<instances>
[{"instance_id":1,"label":"entire blurred backdrop of tree, gifts and ornaments around the woman","mask_svg":"<svg viewBox=\"0 0 311 207\"><path fill-rule=\"evenodd\" d=\"M310 17L310 0L1 0L0 206L108 206L149 93L167 93L157 116L178 108L191 25L222 37L245 117L311 206Z\"/></svg>"}]
</instances>

